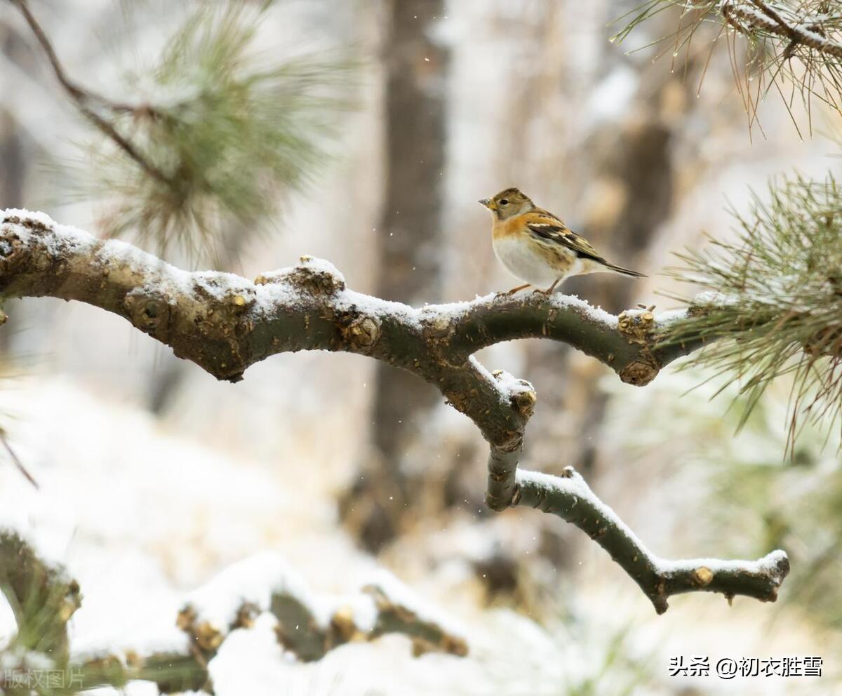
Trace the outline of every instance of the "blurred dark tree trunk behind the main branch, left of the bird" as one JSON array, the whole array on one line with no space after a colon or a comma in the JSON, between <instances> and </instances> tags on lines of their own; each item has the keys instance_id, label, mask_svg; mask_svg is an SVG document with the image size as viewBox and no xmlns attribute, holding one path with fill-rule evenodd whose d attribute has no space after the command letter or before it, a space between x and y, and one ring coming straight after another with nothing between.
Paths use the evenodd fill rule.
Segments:
<instances>
[{"instance_id":1,"label":"blurred dark tree trunk behind the main branch, left of the bird","mask_svg":"<svg viewBox=\"0 0 842 696\"><path fill-rule=\"evenodd\" d=\"M377 225L380 277L375 295L411 304L440 298L445 253L441 215L449 51L432 38L442 0L392 0L383 46L386 189ZM344 517L365 548L392 539L410 501L405 453L439 396L402 370L378 364L371 457ZM413 499L415 499L413 495Z\"/></svg>"}]
</instances>

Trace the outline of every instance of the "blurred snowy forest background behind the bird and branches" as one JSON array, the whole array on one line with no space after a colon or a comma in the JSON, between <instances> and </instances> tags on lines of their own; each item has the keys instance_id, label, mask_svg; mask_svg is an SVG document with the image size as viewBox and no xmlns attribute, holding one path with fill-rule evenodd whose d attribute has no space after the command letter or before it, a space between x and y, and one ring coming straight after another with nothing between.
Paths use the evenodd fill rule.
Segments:
<instances>
[{"instance_id":1,"label":"blurred snowy forest background behind the bird and branches","mask_svg":"<svg viewBox=\"0 0 842 696\"><path fill-rule=\"evenodd\" d=\"M611 22L636 5L269 3L258 48L276 60L339 50L322 69L338 71L341 93L302 107L312 123L307 109L318 106L324 128L298 167L275 177L271 215L241 216L214 233L212 249L198 237L164 258L253 278L310 254L336 264L354 290L389 300L471 299L515 284L493 258L477 199L518 186L607 257L650 276L573 279L564 292L613 313L673 304L658 295L680 290L662 274L670 252L701 246L705 232L732 235L727 207L746 210L750 188L834 170L839 114L814 103L808 119L800 102L788 109L772 94L749 127L728 51L711 55L716 29L700 29L676 58L667 45L658 61L663 45L630 51L670 35L674 13L610 42L621 29ZM125 76L159 55L195 3L32 8L77 82L137 101L142 82ZM112 209L80 189L102 173L96 141L84 143L90 126L19 13L0 3L0 208L43 210L162 252L136 226L108 229ZM87 305L14 300L4 310L2 425L41 487L0 466L0 519L83 587L74 650L155 640L184 592L233 561L278 550L319 592L349 592L354 578L385 566L461 625L469 655L413 657L402 636L307 664L256 646L225 667L222 651L215 662L228 676L216 679L217 693L839 688L838 438L807 428L786 457L786 380L735 434L736 388L711 398L723 385L712 380L689 391L711 376L699 370L672 367L637 389L558 343L480 354L489 369L536 386L524 463L550 473L576 466L658 554L790 554L792 576L774 605L738 598L729 607L701 593L674 598L657 617L577 529L530 511L488 511L486 444L413 375L359 356L296 353L230 385ZM0 635L8 614L0 608ZM825 671L818 683L676 679L676 655L818 655ZM241 681L222 683L234 667ZM128 693L157 693L149 687Z\"/></svg>"}]
</instances>

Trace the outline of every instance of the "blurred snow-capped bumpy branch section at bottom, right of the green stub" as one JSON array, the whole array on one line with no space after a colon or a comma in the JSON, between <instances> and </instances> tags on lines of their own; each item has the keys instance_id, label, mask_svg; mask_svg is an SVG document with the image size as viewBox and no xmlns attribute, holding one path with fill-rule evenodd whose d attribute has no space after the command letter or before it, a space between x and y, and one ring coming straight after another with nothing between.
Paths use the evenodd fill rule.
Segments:
<instances>
[{"instance_id":1,"label":"blurred snow-capped bumpy branch section at bottom, right of the green stub","mask_svg":"<svg viewBox=\"0 0 842 696\"><path fill-rule=\"evenodd\" d=\"M450 627L450 619L424 607L390 573L379 572L354 594L319 595L273 552L229 566L200 587L187 599L177 623L210 660L232 630L251 628L266 613L277 621L280 644L302 661L320 660L344 643L387 633L407 635L416 656L431 651L467 654L466 641Z\"/></svg>"}]
</instances>

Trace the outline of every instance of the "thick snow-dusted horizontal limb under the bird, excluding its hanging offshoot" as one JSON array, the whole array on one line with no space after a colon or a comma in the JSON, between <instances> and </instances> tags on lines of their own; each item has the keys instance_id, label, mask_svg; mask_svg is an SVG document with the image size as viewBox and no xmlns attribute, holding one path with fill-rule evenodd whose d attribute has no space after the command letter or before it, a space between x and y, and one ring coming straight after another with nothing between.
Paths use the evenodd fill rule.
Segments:
<instances>
[{"instance_id":1,"label":"thick snow-dusted horizontal limb under the bird, excluding its hanging offshoot","mask_svg":"<svg viewBox=\"0 0 842 696\"><path fill-rule=\"evenodd\" d=\"M310 257L252 282L189 273L41 213L0 211L0 223L3 296L52 296L113 311L221 380L239 380L249 365L274 353L317 349L370 354L446 382L450 375L440 380L440 373L461 369L480 348L548 337L638 383L627 375L631 364L650 364L651 380L680 354L630 343L616 316L565 295L487 295L416 309L348 290L332 264Z\"/></svg>"}]
</instances>

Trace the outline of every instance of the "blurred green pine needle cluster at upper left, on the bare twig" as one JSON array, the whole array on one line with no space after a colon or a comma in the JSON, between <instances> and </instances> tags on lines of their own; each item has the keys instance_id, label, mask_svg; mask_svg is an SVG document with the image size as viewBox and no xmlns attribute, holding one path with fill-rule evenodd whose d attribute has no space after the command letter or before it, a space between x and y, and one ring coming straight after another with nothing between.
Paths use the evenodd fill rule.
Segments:
<instances>
[{"instance_id":1,"label":"blurred green pine needle cluster at upper left, on the bare twig","mask_svg":"<svg viewBox=\"0 0 842 696\"><path fill-rule=\"evenodd\" d=\"M134 156L113 139L97 141L86 163L106 234L216 261L224 231L253 232L278 211L280 193L325 161L334 117L350 105L353 62L258 55L262 17L241 3L203 8L152 72L130 77L152 96L112 105L111 123Z\"/></svg>"}]
</instances>

